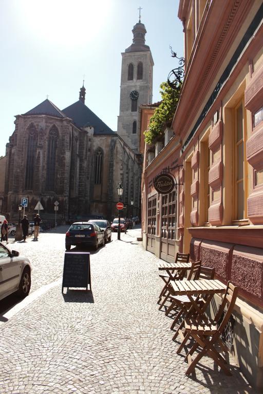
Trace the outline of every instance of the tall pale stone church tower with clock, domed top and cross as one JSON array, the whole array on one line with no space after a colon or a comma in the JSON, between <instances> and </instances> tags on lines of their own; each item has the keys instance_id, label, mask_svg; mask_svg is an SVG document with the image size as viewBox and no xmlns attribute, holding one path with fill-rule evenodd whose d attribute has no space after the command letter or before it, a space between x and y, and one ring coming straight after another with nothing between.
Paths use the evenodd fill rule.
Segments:
<instances>
[{"instance_id":1,"label":"tall pale stone church tower with clock, domed top and cross","mask_svg":"<svg viewBox=\"0 0 263 394\"><path fill-rule=\"evenodd\" d=\"M122 53L117 133L130 148L139 152L139 106L152 103L154 61L150 48L145 45L146 29L141 23L141 14L132 32L133 43Z\"/></svg>"}]
</instances>

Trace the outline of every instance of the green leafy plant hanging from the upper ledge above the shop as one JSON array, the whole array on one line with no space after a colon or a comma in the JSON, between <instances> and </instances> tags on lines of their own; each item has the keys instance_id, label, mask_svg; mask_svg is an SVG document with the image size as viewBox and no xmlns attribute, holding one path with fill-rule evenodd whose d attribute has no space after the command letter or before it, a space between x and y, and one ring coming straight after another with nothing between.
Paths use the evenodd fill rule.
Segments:
<instances>
[{"instance_id":1,"label":"green leafy plant hanging from the upper ledge above the shop","mask_svg":"<svg viewBox=\"0 0 263 394\"><path fill-rule=\"evenodd\" d=\"M144 131L145 142L152 144L154 140L164 133L164 125L171 123L180 97L181 84L172 89L167 82L160 85L162 102L154 111L150 119L148 130Z\"/></svg>"}]
</instances>

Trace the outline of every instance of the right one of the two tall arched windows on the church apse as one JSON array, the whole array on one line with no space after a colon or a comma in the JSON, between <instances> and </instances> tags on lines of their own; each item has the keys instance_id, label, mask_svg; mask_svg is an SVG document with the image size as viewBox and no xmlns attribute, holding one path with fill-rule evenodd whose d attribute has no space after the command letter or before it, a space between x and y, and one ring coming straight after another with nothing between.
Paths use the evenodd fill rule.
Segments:
<instances>
[{"instance_id":1,"label":"right one of the two tall arched windows on the church apse","mask_svg":"<svg viewBox=\"0 0 263 394\"><path fill-rule=\"evenodd\" d=\"M55 189L55 162L58 146L59 130L55 125L49 130L48 148L47 148L47 180L46 189L54 191Z\"/></svg>"}]
</instances>

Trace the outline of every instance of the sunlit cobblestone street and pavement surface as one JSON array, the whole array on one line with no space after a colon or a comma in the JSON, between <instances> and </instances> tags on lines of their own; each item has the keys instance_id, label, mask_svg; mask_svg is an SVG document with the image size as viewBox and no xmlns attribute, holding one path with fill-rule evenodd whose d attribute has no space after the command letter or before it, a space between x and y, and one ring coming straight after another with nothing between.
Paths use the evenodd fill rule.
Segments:
<instances>
[{"instance_id":1,"label":"sunlit cobblestone street and pavement surface","mask_svg":"<svg viewBox=\"0 0 263 394\"><path fill-rule=\"evenodd\" d=\"M54 281L62 278L65 230L41 233L39 242L10 243L32 262L32 290L21 310L0 319L1 394L255 393L233 361L232 377L209 358L196 377L184 375L171 320L156 304L158 259L137 241L139 229L122 233L121 241L115 233L91 253L92 294L63 295L61 281Z\"/></svg>"}]
</instances>

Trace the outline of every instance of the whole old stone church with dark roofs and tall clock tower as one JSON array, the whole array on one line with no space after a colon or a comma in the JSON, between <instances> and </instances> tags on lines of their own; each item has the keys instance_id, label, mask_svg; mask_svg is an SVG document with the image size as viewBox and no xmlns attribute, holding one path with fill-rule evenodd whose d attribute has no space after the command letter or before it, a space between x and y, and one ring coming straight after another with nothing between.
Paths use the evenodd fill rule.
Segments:
<instances>
[{"instance_id":1,"label":"whole old stone church with dark roofs and tall clock tower","mask_svg":"<svg viewBox=\"0 0 263 394\"><path fill-rule=\"evenodd\" d=\"M140 214L139 105L152 100L154 64L145 33L139 19L133 43L122 53L117 132L85 105L84 83L79 100L63 110L46 99L15 116L2 207L9 221L17 220L22 198L28 198L29 219L40 202L43 220L52 222L58 202L58 224L89 215L110 220L118 215L119 183L123 216Z\"/></svg>"}]
</instances>

